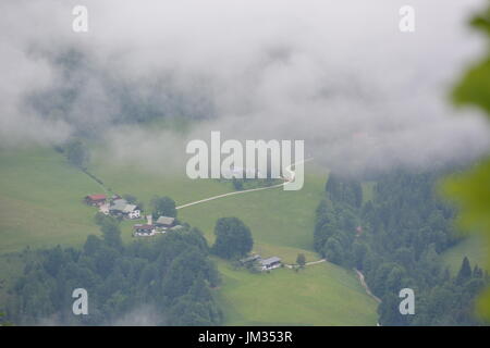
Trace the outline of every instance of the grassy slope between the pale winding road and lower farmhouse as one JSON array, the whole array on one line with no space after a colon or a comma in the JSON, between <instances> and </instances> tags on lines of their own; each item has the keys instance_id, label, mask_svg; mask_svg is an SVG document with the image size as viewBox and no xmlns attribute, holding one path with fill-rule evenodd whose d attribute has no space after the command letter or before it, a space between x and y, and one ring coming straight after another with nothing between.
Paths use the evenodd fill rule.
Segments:
<instances>
[{"instance_id":1,"label":"grassy slope between the pale winding road and lower farmhouse","mask_svg":"<svg viewBox=\"0 0 490 348\"><path fill-rule=\"evenodd\" d=\"M237 216L250 227L256 247L310 250L315 210L321 199L323 177L308 175L304 188L298 191L284 191L280 187L226 197L185 208L179 211L179 215L201 228L210 240L219 217Z\"/></svg>"}]
</instances>

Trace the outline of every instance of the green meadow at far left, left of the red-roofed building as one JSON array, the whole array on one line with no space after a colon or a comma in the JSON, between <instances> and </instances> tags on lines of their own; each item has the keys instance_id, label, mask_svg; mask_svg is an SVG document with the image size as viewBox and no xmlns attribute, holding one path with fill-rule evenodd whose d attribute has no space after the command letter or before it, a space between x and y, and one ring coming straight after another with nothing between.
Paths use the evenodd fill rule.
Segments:
<instances>
[{"instance_id":1,"label":"green meadow at far left, left of the red-roofed building","mask_svg":"<svg viewBox=\"0 0 490 348\"><path fill-rule=\"evenodd\" d=\"M51 149L0 150L0 253L83 243L98 228L82 198L99 190Z\"/></svg>"}]
</instances>

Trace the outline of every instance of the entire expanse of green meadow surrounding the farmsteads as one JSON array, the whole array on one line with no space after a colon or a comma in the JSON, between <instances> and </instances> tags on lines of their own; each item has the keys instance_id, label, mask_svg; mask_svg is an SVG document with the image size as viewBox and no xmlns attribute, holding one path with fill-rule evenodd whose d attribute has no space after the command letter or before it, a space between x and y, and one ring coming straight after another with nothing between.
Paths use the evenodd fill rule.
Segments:
<instances>
[{"instance_id":1,"label":"entire expanse of green meadow surrounding the farmsteads","mask_svg":"<svg viewBox=\"0 0 490 348\"><path fill-rule=\"evenodd\" d=\"M93 219L96 210L82 199L103 192L103 188L66 164L60 153L52 149L3 150L0 161L0 253L26 246L79 246L88 234L98 233ZM262 257L278 256L294 263L297 253L303 252L308 262L316 261L319 257L311 246L314 217L327 173L314 164L305 170L305 187L299 191L280 187L220 198L179 210L179 219L201 229L212 243L217 219L237 216L250 227L254 251ZM192 181L103 160L94 161L89 171L111 191L132 194L146 207L156 195L172 197L179 206L233 190L229 183ZM126 241L133 239L133 223L122 224ZM225 324L376 324L377 303L352 271L324 262L301 272L284 268L253 274L234 270L223 260L216 262L223 277L217 297L224 308ZM0 276L12 278L11 273L2 270Z\"/></svg>"}]
</instances>

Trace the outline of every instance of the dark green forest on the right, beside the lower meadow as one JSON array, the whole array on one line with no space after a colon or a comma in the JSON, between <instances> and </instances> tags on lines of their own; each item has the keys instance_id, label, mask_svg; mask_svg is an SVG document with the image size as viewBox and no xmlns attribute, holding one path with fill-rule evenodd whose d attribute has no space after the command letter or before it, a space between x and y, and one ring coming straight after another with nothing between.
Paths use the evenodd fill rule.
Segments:
<instances>
[{"instance_id":1,"label":"dark green forest on the right, beside the lower meadow","mask_svg":"<svg viewBox=\"0 0 490 348\"><path fill-rule=\"evenodd\" d=\"M379 177L363 204L359 183L331 175L317 209L315 248L329 261L360 270L382 302L382 325L473 325L474 300L488 281L465 259L457 276L439 254L457 243L454 210L433 191L437 173ZM402 288L416 294L415 315L399 310Z\"/></svg>"}]
</instances>

